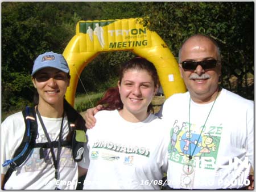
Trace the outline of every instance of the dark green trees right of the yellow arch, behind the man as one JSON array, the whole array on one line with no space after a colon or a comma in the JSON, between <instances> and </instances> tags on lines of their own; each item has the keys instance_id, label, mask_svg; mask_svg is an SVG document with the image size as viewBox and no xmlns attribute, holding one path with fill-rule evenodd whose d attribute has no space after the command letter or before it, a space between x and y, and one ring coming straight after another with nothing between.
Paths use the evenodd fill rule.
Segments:
<instances>
[{"instance_id":1,"label":"dark green trees right of the yellow arch, behind the man","mask_svg":"<svg viewBox=\"0 0 256 192\"><path fill-rule=\"evenodd\" d=\"M143 7L144 25L166 41L176 58L182 42L189 36L196 33L211 36L222 50L221 85L243 97L254 99L253 2L153 4ZM237 81L232 82L232 79Z\"/></svg>"}]
</instances>

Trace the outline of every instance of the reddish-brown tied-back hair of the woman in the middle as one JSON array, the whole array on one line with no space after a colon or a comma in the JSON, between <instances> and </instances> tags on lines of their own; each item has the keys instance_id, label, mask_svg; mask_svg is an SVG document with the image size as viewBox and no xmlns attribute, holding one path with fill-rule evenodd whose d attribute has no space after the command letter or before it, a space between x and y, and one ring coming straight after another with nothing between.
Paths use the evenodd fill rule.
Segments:
<instances>
[{"instance_id":1,"label":"reddish-brown tied-back hair of the woman in the middle","mask_svg":"<svg viewBox=\"0 0 256 192\"><path fill-rule=\"evenodd\" d=\"M135 57L133 59L130 59L129 61L123 63L121 65L121 68L119 70L119 81L122 81L123 75L125 72L129 69L138 69L138 70L146 70L148 74L151 75L153 81L154 81L154 86L159 86L159 78L158 78L158 73L155 69L155 66L153 63L147 61L147 59L141 58L141 57ZM102 97L100 101L98 101L97 104L102 104L103 109L105 110L114 110L114 109L122 109L123 108L123 103L120 98L120 93L118 87L112 87L109 88L106 92L105 95ZM152 104L148 105L147 112L152 112L154 113L154 109Z\"/></svg>"}]
</instances>

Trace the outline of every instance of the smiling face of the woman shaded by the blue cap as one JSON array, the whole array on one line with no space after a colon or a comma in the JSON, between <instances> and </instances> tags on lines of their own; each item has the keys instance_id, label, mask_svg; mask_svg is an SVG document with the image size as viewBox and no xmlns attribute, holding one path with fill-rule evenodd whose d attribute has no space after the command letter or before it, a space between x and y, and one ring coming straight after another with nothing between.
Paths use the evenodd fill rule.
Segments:
<instances>
[{"instance_id":1,"label":"smiling face of the woman shaded by the blue cap","mask_svg":"<svg viewBox=\"0 0 256 192\"><path fill-rule=\"evenodd\" d=\"M64 95L69 86L67 73L47 67L36 72L32 78L32 82L38 91L38 105L63 106Z\"/></svg>"}]
</instances>

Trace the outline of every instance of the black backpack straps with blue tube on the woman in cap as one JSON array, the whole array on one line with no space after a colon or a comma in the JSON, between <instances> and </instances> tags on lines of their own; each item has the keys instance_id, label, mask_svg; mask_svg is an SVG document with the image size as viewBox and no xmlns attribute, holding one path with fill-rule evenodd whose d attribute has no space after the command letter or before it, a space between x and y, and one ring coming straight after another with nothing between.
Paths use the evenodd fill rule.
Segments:
<instances>
[{"instance_id":1,"label":"black backpack straps with blue tube on the woman in cap","mask_svg":"<svg viewBox=\"0 0 256 192\"><path fill-rule=\"evenodd\" d=\"M9 165L9 169L5 174L3 181L3 186L10 178L11 174L19 167L30 155L33 148L40 148L40 158L43 158L43 148L50 148L49 143L35 143L36 136L38 135L38 123L36 121L36 112L34 107L27 106L26 109L22 111L24 121L26 124L26 130L22 139L22 143L17 148L14 153L14 158L11 160L6 160L2 164L3 167ZM74 118L74 117L73 117ZM69 131L72 131L71 140L61 140L61 147L72 148L72 156L74 161L79 162L82 160L82 154L84 152L84 144L86 143L86 130L78 130L74 124L75 119L70 120L68 117ZM73 130L72 130L73 128ZM51 142L52 146L55 148L58 146L59 141ZM2 189L3 189L2 186Z\"/></svg>"}]
</instances>

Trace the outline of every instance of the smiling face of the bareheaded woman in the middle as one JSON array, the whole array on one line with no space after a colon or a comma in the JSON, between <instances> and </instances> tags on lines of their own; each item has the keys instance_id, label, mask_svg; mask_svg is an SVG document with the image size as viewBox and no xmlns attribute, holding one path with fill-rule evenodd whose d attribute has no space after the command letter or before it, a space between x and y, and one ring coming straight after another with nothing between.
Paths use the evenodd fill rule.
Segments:
<instances>
[{"instance_id":1,"label":"smiling face of the bareheaded woman in the middle","mask_svg":"<svg viewBox=\"0 0 256 192\"><path fill-rule=\"evenodd\" d=\"M121 82L118 82L120 97L123 103L121 116L126 120L136 117L144 120L148 105L151 103L157 86L147 70L129 69L123 73Z\"/></svg>"}]
</instances>

